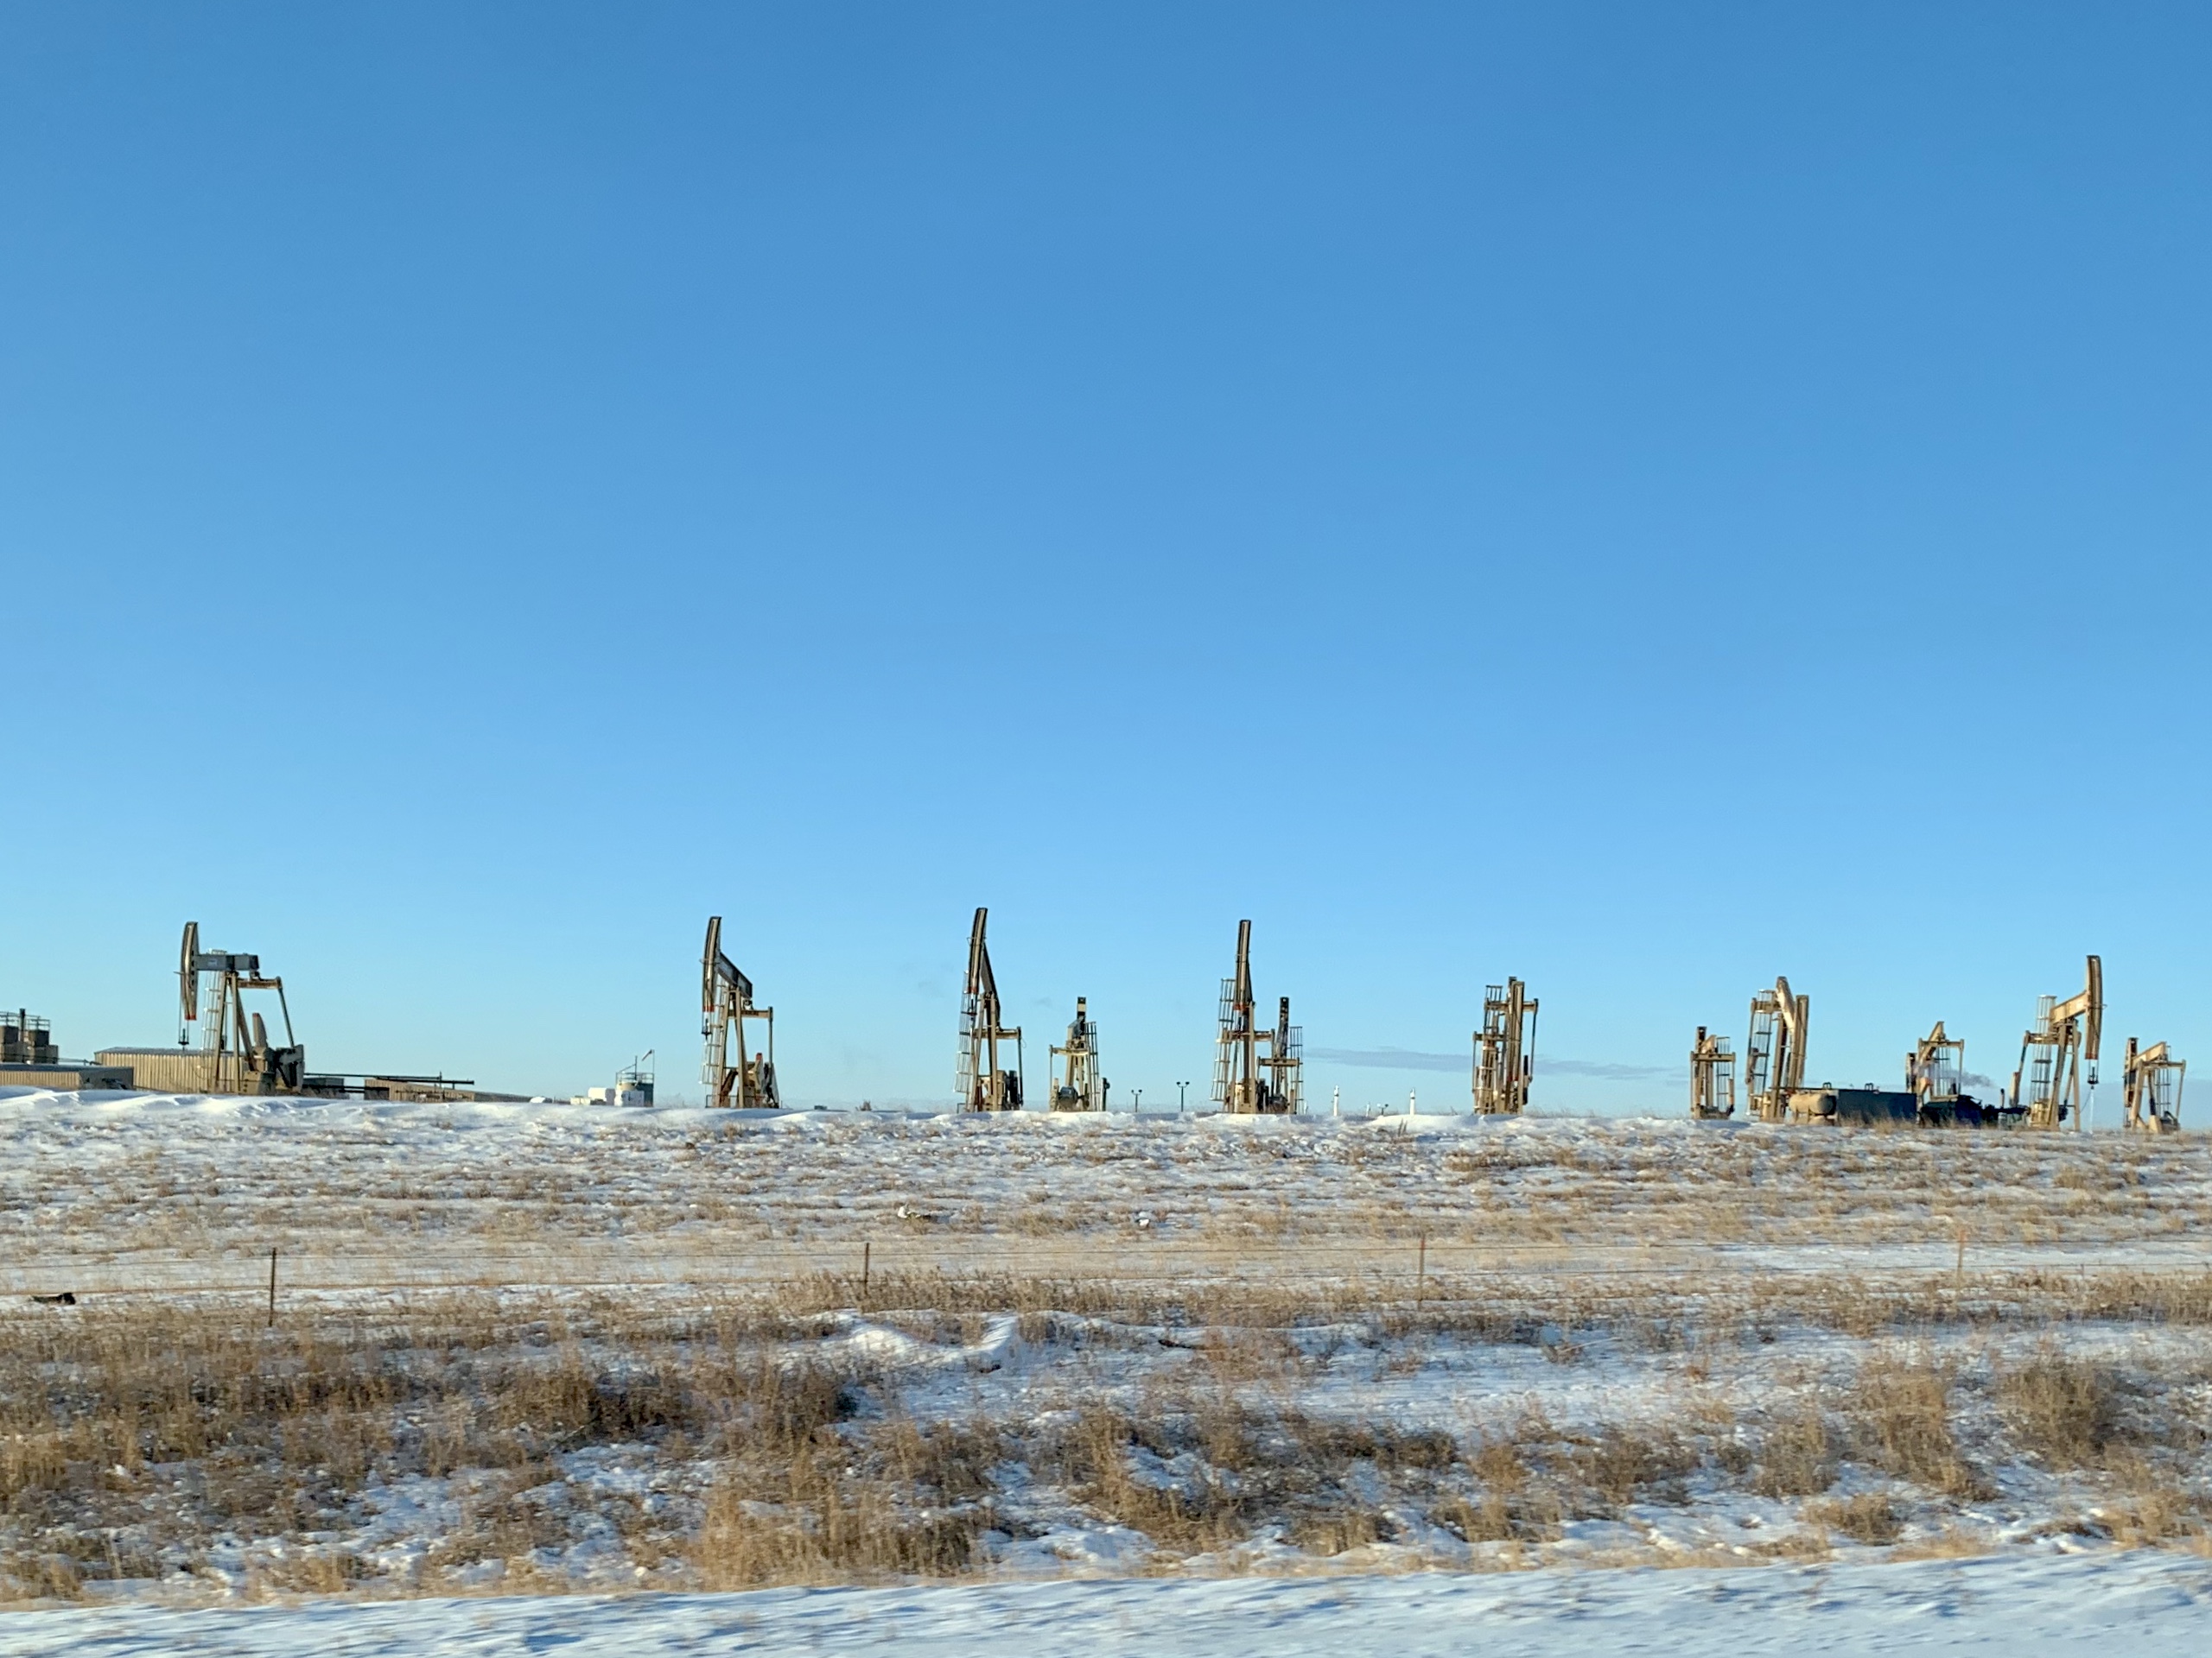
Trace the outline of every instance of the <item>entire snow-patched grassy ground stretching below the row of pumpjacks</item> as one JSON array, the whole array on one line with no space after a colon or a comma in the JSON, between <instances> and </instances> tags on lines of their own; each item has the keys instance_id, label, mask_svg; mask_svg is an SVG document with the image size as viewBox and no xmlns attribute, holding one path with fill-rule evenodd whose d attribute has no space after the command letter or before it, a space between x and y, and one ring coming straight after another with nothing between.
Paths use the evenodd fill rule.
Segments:
<instances>
[{"instance_id":1,"label":"entire snow-patched grassy ground stretching below the row of pumpjacks","mask_svg":"<svg viewBox=\"0 0 2212 1658\"><path fill-rule=\"evenodd\" d=\"M2170 1616L2201 1561L2115 1545L2201 1545L2208 1220L2199 1134L0 1096L9 1594L664 1592L0 1651Z\"/></svg>"}]
</instances>

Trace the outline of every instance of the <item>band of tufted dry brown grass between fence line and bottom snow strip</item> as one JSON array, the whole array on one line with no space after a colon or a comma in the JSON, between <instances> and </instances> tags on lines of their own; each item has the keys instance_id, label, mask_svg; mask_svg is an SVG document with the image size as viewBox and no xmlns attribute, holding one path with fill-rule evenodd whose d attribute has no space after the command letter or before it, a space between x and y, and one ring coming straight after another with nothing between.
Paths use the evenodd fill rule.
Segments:
<instances>
[{"instance_id":1,"label":"band of tufted dry brown grass between fence line and bottom snow strip","mask_svg":"<svg viewBox=\"0 0 2212 1658\"><path fill-rule=\"evenodd\" d=\"M1141 1532L1161 1567L1234 1561L1263 1528L1316 1561L1378 1550L1369 1563L1405 1563L1391 1514L1504 1545L1475 1552L1495 1563L1542 1552L1566 1521L1705 1486L1801 1503L1805 1530L1759 1552L1816 1559L1829 1536L1924 1552L1900 1543L1902 1492L1834 1497L1845 1463L1916 1488L1916 1517L1940 1525L1991 1494L1984 1466L2013 1448L2064 1479L2064 1501L2095 1517L2086 1530L2190 1543L2201 1373L2073 1357L2055 1335L2017 1360L1936 1355L2020 1353L2022 1331L2084 1318L2190 1329L2212 1307L2205 1282L1431 1273L1416 1304L1409 1278L874 1273L872 1320L953 1373L991 1315L1015 1315L1035 1382L998 1395L1018 1402L998 1419L960 1421L909 1417L900 1375L823 1360L858 1300L834 1276L710 1300L303 1302L274 1331L259 1309L215 1300L0 1313L0 1596L197 1570L223 1534L334 1536L332 1517L367 1488L416 1475L449 1479L462 1514L418 1578L294 1541L254 1559L248 1592L436 1592L480 1581L467 1572L568 1587L549 1563L568 1521L544 1492L568 1452L617 1446L666 1472L653 1503L591 1497L622 1561L708 1587L973 1572L987 1532L1022 1536L1020 1505L993 1486L1002 1463ZM1796 1346L1807 1331L1851 1340ZM1986 1342L1938 1340L1947 1331ZM1301 1408L1316 1379L1449 1368L1482 1344L1520 1349L1522 1364L1531 1349L1571 1364L1635 1355L1681 1386L1681 1408L1577 1430L1471 1415L1458 1435ZM1865 1357L1854 1375L1834 1353ZM1765 1382L1739 1415L1745 1373ZM1135 1382L1091 1388L1095 1375Z\"/></svg>"}]
</instances>

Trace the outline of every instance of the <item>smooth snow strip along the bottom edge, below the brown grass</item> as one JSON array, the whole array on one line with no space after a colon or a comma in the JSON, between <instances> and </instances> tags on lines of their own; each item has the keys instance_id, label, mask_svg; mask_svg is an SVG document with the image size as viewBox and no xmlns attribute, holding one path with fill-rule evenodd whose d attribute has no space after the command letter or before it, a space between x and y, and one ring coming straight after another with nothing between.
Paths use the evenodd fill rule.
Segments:
<instances>
[{"instance_id":1,"label":"smooth snow strip along the bottom edge, below the brown grass","mask_svg":"<svg viewBox=\"0 0 2212 1658\"><path fill-rule=\"evenodd\" d=\"M1391 1654L1681 1658L2203 1651L2212 1565L2168 1554L1920 1561L1772 1572L1009 1583L628 1598L323 1601L246 1612L0 1616L0 1658L706 1658L739 1651L1020 1651L1088 1658Z\"/></svg>"}]
</instances>

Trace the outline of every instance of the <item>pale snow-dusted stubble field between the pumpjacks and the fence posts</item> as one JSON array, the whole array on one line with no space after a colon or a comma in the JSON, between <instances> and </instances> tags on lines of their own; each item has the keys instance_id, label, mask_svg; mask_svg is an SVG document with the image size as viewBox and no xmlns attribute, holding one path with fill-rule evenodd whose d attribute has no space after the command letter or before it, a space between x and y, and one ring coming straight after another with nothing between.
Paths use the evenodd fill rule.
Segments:
<instances>
[{"instance_id":1,"label":"pale snow-dusted stubble field between the pumpjacks and the fence posts","mask_svg":"<svg viewBox=\"0 0 2212 1658\"><path fill-rule=\"evenodd\" d=\"M0 1092L4 1287L2192 1265L2201 1134L613 1112ZM35 1245L35 1247L33 1247ZM226 1267L228 1262L228 1267Z\"/></svg>"}]
</instances>

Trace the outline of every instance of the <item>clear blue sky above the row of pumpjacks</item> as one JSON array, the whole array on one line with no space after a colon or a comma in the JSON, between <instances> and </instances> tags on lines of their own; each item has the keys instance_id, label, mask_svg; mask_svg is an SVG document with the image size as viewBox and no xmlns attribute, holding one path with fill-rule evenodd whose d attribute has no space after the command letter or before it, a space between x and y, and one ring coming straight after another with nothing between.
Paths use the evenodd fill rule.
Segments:
<instances>
[{"instance_id":1,"label":"clear blue sky above the row of pumpjacks","mask_svg":"<svg viewBox=\"0 0 2212 1658\"><path fill-rule=\"evenodd\" d=\"M0 4L0 997L697 1096L2212 1057L2212 13ZM1551 1063L1566 1061L1566 1063ZM2208 1096L2212 1099L2212 1096Z\"/></svg>"}]
</instances>

